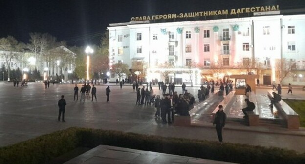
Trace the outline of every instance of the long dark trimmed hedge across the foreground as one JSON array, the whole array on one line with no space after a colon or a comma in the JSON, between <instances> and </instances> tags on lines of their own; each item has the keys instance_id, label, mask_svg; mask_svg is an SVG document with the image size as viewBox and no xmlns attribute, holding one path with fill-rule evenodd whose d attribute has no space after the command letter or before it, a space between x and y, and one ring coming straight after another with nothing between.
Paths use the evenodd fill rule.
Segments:
<instances>
[{"instance_id":1,"label":"long dark trimmed hedge across the foreground","mask_svg":"<svg viewBox=\"0 0 305 164\"><path fill-rule=\"evenodd\" d=\"M244 164L305 164L305 154L273 147L68 128L0 148L0 164L42 164L79 146L111 145Z\"/></svg>"}]
</instances>

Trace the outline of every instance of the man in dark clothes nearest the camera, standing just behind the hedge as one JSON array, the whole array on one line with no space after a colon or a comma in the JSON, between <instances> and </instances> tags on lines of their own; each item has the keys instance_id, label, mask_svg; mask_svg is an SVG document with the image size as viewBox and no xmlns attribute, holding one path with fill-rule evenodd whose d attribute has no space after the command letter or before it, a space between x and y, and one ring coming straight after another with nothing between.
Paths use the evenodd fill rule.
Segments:
<instances>
[{"instance_id":1,"label":"man in dark clothes nearest the camera, standing just behind the hedge","mask_svg":"<svg viewBox=\"0 0 305 164\"><path fill-rule=\"evenodd\" d=\"M216 124L216 132L218 136L218 141L222 143L222 128L225 125L225 121L227 115L223 112L222 105L218 106L218 111L216 112L215 119L213 121L213 125Z\"/></svg>"}]
</instances>

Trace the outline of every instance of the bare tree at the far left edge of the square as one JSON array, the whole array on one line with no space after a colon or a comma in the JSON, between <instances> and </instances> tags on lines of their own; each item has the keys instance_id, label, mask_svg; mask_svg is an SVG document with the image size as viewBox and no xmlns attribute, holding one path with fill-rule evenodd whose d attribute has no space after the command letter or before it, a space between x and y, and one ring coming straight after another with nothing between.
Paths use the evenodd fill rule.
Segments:
<instances>
[{"instance_id":1,"label":"bare tree at the far left edge of the square","mask_svg":"<svg viewBox=\"0 0 305 164\"><path fill-rule=\"evenodd\" d=\"M0 50L3 51L3 57L7 64L7 73L8 78L7 81L10 81L10 70L11 70L11 61L14 58L17 58L22 51L22 45L19 43L14 37L7 36L7 38L0 39Z\"/></svg>"}]
</instances>

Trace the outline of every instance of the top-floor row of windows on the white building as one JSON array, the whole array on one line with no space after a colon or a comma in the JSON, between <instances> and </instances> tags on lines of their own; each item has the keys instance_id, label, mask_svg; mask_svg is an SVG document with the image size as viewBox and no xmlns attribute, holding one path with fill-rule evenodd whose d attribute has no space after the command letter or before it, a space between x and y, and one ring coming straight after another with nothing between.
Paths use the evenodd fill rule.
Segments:
<instances>
[{"instance_id":1,"label":"top-floor row of windows on the white building","mask_svg":"<svg viewBox=\"0 0 305 164\"><path fill-rule=\"evenodd\" d=\"M288 34L295 34L295 26L288 26ZM229 36L229 29L225 28L222 29L222 35L224 37ZM245 31L242 32L243 36L249 36L249 28L247 28ZM264 26L263 27L263 35L270 35L270 26ZM185 38L190 39L192 38L191 31L185 32ZM203 30L203 38L210 38L210 30ZM158 40L158 34L152 35L153 40ZM174 33L169 32L169 39L174 39ZM141 41L142 40L142 33L136 34L136 40ZM123 35L118 35L118 42L123 41Z\"/></svg>"}]
</instances>

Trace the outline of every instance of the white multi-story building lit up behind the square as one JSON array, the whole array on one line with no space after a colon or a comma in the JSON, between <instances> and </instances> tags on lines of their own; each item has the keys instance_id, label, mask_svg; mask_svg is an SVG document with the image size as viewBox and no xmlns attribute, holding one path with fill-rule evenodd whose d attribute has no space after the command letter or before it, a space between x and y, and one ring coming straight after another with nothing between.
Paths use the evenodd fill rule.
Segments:
<instances>
[{"instance_id":1,"label":"white multi-story building lit up behind the square","mask_svg":"<svg viewBox=\"0 0 305 164\"><path fill-rule=\"evenodd\" d=\"M181 83L193 79L194 84L200 84L202 80L215 80L218 70L221 76L251 71L259 74L265 85L282 79L283 84L305 84L305 15L131 21L110 24L108 29L110 69L119 62L131 69L134 61L147 63L147 81ZM173 67L161 67L164 63ZM192 63L197 68L191 68ZM191 76L187 73L190 69L194 71ZM168 80L162 76L167 70L171 70ZM116 78L112 74L110 81Z\"/></svg>"}]
</instances>

